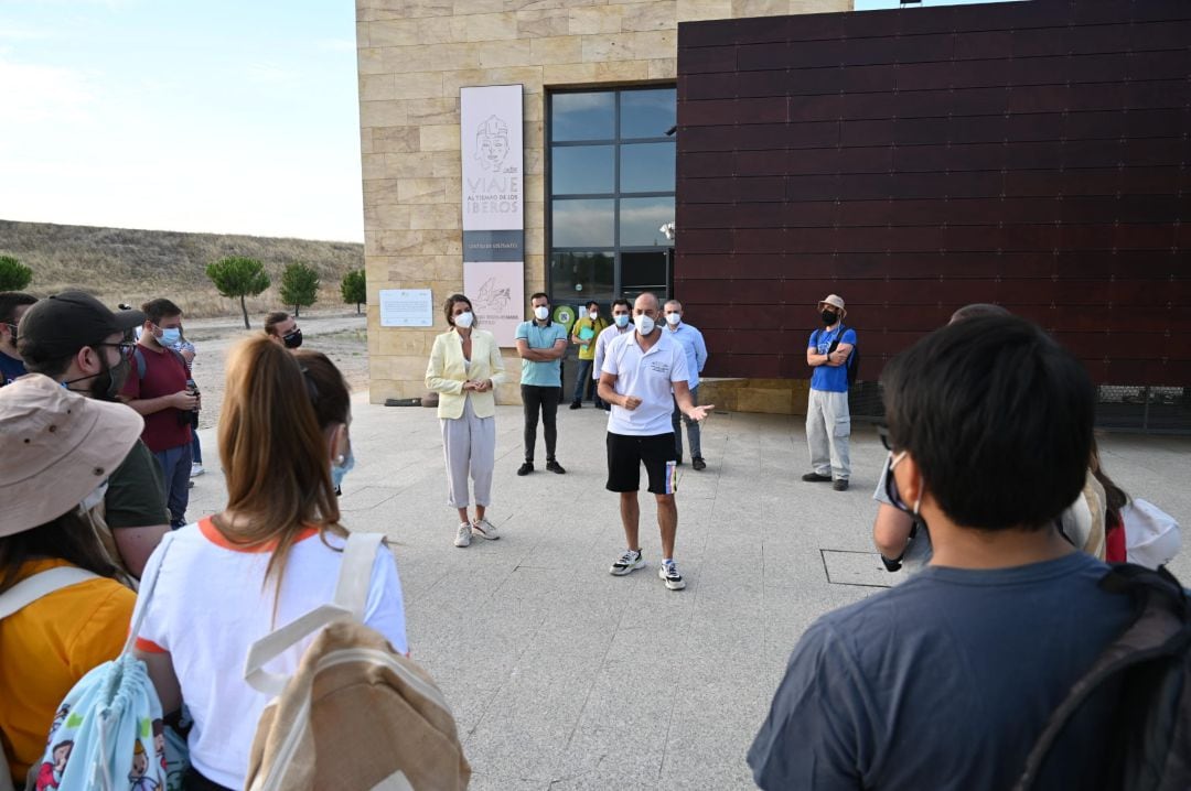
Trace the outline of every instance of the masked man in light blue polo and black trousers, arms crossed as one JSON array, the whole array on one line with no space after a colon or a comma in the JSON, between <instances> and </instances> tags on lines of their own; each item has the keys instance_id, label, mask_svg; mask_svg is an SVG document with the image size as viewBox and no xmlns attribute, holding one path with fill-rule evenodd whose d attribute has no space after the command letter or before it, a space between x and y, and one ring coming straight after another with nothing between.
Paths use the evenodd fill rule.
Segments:
<instances>
[{"instance_id":1,"label":"masked man in light blue polo and black trousers, arms crossed","mask_svg":"<svg viewBox=\"0 0 1191 791\"><path fill-rule=\"evenodd\" d=\"M537 416L542 414L545 434L545 469L562 475L566 470L554 458L559 438L555 418L562 394L562 356L567 353L567 328L550 319L550 297L538 291L530 297L534 320L517 325L517 353L522 358L522 403L525 407L525 463L517 475L534 471L537 445Z\"/></svg>"}]
</instances>

